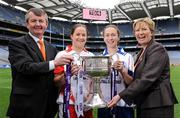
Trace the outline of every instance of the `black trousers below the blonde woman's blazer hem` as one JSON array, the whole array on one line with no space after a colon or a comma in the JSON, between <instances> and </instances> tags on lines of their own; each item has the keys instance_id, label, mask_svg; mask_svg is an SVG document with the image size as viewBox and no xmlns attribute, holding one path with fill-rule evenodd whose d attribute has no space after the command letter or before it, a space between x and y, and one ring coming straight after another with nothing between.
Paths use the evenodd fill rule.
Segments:
<instances>
[{"instance_id":1,"label":"black trousers below the blonde woman's blazer hem","mask_svg":"<svg viewBox=\"0 0 180 118\"><path fill-rule=\"evenodd\" d=\"M137 108L137 118L174 118L174 105L158 108Z\"/></svg>"}]
</instances>

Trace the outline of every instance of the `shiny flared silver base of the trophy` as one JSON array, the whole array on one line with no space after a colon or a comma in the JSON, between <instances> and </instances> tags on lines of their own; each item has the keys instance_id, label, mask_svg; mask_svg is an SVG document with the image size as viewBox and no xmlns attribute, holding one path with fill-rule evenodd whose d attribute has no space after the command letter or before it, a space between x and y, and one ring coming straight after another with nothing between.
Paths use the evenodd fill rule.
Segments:
<instances>
[{"instance_id":1,"label":"shiny flared silver base of the trophy","mask_svg":"<svg viewBox=\"0 0 180 118\"><path fill-rule=\"evenodd\" d=\"M100 98L98 93L94 93L94 96L91 99L91 101L85 103L85 106L90 108L104 108L107 107L107 104Z\"/></svg>"}]
</instances>

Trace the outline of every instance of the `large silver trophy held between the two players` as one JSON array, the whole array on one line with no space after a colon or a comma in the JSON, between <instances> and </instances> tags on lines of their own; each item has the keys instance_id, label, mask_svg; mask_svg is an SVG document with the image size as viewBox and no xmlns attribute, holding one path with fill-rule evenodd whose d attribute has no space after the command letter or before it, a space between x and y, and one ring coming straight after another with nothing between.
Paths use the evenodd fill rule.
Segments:
<instances>
[{"instance_id":1,"label":"large silver trophy held between the two players","mask_svg":"<svg viewBox=\"0 0 180 118\"><path fill-rule=\"evenodd\" d=\"M85 107L103 108L107 103L103 100L100 90L101 78L110 74L110 59L109 56L85 56L83 57L83 68L85 74L92 79L92 88L89 100L85 102Z\"/></svg>"}]
</instances>

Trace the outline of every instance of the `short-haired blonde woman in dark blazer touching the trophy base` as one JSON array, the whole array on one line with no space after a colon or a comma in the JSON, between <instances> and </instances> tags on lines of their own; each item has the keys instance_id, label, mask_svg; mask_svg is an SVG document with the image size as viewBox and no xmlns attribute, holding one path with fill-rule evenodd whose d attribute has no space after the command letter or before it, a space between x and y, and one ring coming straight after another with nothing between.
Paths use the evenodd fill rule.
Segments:
<instances>
[{"instance_id":1,"label":"short-haired blonde woman in dark blazer touching the trophy base","mask_svg":"<svg viewBox=\"0 0 180 118\"><path fill-rule=\"evenodd\" d=\"M135 79L108 107L123 99L136 104L137 118L173 118L174 104L178 101L170 83L167 51L154 40L155 23L150 18L140 18L134 22L133 29L142 48L135 61Z\"/></svg>"}]
</instances>

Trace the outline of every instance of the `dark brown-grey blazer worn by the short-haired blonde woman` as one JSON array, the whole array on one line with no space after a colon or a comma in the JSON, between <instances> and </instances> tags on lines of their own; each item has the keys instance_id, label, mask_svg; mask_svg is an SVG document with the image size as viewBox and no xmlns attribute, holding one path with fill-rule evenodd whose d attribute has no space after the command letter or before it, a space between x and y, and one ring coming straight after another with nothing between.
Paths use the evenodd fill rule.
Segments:
<instances>
[{"instance_id":1,"label":"dark brown-grey blazer worn by the short-haired blonde woman","mask_svg":"<svg viewBox=\"0 0 180 118\"><path fill-rule=\"evenodd\" d=\"M142 52L142 50L141 50ZM140 54L138 55L138 57ZM170 83L170 64L166 49L151 40L141 59L136 60L134 81L119 95L140 108L154 108L177 103Z\"/></svg>"}]
</instances>

